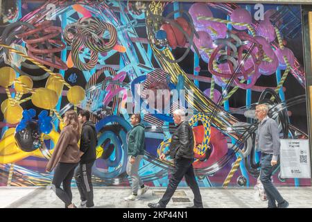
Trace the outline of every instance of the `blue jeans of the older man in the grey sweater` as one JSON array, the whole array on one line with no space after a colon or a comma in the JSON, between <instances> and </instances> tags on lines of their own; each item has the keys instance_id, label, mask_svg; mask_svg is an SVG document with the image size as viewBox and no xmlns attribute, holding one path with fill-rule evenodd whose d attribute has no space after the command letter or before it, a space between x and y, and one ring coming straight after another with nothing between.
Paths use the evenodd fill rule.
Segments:
<instances>
[{"instance_id":1,"label":"blue jeans of the older man in the grey sweater","mask_svg":"<svg viewBox=\"0 0 312 222\"><path fill-rule=\"evenodd\" d=\"M284 202L284 198L281 197L279 191L272 184L271 176L273 173L273 167L271 165L272 154L261 153L261 171L260 180L263 184L263 188L266 191L268 198L268 207L276 207L275 200L277 203Z\"/></svg>"}]
</instances>

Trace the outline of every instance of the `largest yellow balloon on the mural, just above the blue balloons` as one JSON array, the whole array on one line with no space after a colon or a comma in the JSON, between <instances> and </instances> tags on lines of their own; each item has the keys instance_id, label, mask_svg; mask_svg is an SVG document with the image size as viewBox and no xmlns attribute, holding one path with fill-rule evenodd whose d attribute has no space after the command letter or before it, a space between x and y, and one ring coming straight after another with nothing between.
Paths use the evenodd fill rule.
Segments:
<instances>
[{"instance_id":1,"label":"largest yellow balloon on the mural, just above the blue balloons","mask_svg":"<svg viewBox=\"0 0 312 222\"><path fill-rule=\"evenodd\" d=\"M31 96L33 105L44 110L53 110L58 104L58 94L52 89L38 88Z\"/></svg>"}]
</instances>

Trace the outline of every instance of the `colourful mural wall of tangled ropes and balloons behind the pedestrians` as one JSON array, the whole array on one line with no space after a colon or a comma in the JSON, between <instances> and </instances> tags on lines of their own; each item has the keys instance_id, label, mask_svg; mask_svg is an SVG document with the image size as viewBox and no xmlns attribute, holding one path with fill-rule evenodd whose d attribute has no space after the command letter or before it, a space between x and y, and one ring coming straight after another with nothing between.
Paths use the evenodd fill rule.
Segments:
<instances>
[{"instance_id":1,"label":"colourful mural wall of tangled ropes and balloons behind the pedestrians","mask_svg":"<svg viewBox=\"0 0 312 222\"><path fill-rule=\"evenodd\" d=\"M139 174L150 186L168 184L173 164L159 155L170 146L173 110L183 99L193 111L193 167L201 187L256 185L258 103L270 104L281 138L308 139L300 6L1 3L1 186L51 183L46 163L71 109L89 110L96 123L95 186L130 185L126 134L128 111L137 103L148 103L139 106L146 126ZM168 112L153 112L146 89L170 92L161 101ZM174 99L171 92L187 95ZM309 179L281 178L279 164L273 180L310 185Z\"/></svg>"}]
</instances>

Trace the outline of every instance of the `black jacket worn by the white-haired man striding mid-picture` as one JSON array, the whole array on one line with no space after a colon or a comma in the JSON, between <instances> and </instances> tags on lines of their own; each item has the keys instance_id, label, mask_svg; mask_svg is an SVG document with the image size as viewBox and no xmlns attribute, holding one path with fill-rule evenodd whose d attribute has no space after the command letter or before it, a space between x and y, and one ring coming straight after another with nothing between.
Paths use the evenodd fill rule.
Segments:
<instances>
[{"instance_id":1,"label":"black jacket worn by the white-haired man striding mid-picture","mask_svg":"<svg viewBox=\"0 0 312 222\"><path fill-rule=\"evenodd\" d=\"M173 159L194 157L193 130L187 121L180 123L171 137L169 154Z\"/></svg>"}]
</instances>

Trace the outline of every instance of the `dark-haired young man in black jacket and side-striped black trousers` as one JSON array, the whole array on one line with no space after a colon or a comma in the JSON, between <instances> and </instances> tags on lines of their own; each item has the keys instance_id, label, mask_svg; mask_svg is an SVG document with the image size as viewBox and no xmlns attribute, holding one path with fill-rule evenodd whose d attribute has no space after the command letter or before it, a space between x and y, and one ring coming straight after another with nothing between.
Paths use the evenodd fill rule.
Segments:
<instances>
[{"instance_id":1,"label":"dark-haired young man in black jacket and side-striped black trousers","mask_svg":"<svg viewBox=\"0 0 312 222\"><path fill-rule=\"evenodd\" d=\"M96 144L98 144L96 128L87 110L80 110L78 119L83 124L80 136L81 158L76 169L76 184L80 194L80 207L94 207L92 166L96 160Z\"/></svg>"}]
</instances>

